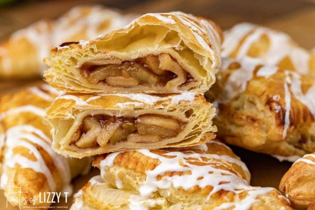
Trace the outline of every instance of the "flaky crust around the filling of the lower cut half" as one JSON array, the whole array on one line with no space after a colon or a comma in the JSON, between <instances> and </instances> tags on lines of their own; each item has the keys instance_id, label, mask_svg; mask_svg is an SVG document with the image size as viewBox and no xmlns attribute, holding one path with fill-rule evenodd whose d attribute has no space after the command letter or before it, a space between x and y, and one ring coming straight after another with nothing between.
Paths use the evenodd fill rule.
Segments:
<instances>
[{"instance_id":1,"label":"flaky crust around the filling of the lower cut half","mask_svg":"<svg viewBox=\"0 0 315 210\"><path fill-rule=\"evenodd\" d=\"M187 116L186 111L193 110ZM187 123L176 137L156 143L118 142L98 148L78 148L70 145L72 135L82 120L89 115L135 116L160 114L173 116ZM146 94L72 94L63 95L46 109L45 120L52 126L53 149L64 156L82 158L127 148L181 147L204 143L215 138L217 131L212 125L215 109L203 96L181 93L165 96Z\"/></svg>"}]
</instances>

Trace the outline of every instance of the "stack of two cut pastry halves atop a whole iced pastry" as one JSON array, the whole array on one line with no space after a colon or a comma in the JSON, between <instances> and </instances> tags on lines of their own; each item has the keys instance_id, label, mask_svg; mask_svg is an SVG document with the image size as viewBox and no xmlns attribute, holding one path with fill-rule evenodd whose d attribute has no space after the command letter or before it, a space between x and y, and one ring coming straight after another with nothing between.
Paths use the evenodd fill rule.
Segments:
<instances>
[{"instance_id":1,"label":"stack of two cut pastry halves atop a whole iced pastry","mask_svg":"<svg viewBox=\"0 0 315 210\"><path fill-rule=\"evenodd\" d=\"M44 76L65 91L46 111L53 149L100 154L101 176L72 209L290 209L277 190L251 187L245 164L213 140L215 109L203 94L215 82L220 33L192 15L149 13L52 50Z\"/></svg>"}]
</instances>

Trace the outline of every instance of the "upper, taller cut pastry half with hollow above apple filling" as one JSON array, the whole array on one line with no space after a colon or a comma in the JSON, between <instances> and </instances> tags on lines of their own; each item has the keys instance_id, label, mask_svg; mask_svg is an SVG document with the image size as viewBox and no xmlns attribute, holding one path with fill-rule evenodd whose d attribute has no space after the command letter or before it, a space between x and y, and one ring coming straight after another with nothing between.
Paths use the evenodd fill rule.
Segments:
<instances>
[{"instance_id":1,"label":"upper, taller cut pastry half with hollow above apple filling","mask_svg":"<svg viewBox=\"0 0 315 210\"><path fill-rule=\"evenodd\" d=\"M182 12L148 13L86 43L55 48L44 73L79 93L204 92L220 64L220 29Z\"/></svg>"}]
</instances>

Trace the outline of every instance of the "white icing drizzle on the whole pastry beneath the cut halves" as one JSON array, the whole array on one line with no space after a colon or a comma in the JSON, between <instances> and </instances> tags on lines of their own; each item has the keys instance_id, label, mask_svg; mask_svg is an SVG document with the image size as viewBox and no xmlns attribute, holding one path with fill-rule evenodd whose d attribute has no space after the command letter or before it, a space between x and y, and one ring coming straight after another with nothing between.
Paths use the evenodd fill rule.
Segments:
<instances>
[{"instance_id":1,"label":"white icing drizzle on the whole pastry beneath the cut halves","mask_svg":"<svg viewBox=\"0 0 315 210\"><path fill-rule=\"evenodd\" d=\"M211 141L210 141L211 142ZM220 142L212 142L220 143ZM215 168L215 166L221 165L225 166L225 160L229 163L239 164L238 159L231 157L226 157L225 155L214 155L207 153L194 153L191 150L185 152L166 152L163 155L158 155L151 152L148 149L136 149L129 151L137 151L145 156L158 159L160 164L153 170L146 171L146 180L144 183L140 184L139 192L141 196L150 198L153 192L159 189L170 189L171 186L178 189L182 187L185 190L193 186L199 186L204 188L205 186L213 186L213 190L208 196L211 196L219 192L220 190L231 191L236 194L247 191L247 197L242 200L235 200L233 203L224 203L217 209L223 209L225 207L234 206L236 209L241 209L241 207L250 208L252 204L256 201L256 197L261 194L266 194L273 190L274 188L260 188L251 187L248 182L238 175L235 175L229 171ZM104 177L105 167L111 167L114 165L114 159L118 154L125 151L114 152L108 155L104 160L100 162L101 176ZM167 157L166 157L167 156ZM209 159L205 161L205 159ZM193 161L208 163L209 165L201 164L202 166L194 165ZM243 164L240 164L243 165ZM242 167L243 168L243 167ZM248 171L247 167L244 167ZM163 176L160 180L157 179L158 175L163 175L166 172L187 172L190 171L189 175L173 175L173 176ZM199 179L199 177L203 177ZM187 181L189 180L189 181ZM246 208L245 208L246 209Z\"/></svg>"}]
</instances>

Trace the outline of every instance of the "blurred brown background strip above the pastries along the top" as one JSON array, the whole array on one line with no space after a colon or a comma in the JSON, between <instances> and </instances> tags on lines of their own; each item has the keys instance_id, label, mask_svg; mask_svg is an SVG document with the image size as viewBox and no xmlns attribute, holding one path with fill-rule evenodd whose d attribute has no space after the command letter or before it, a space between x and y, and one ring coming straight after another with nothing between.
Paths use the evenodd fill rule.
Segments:
<instances>
[{"instance_id":1,"label":"blurred brown background strip above the pastries along the top","mask_svg":"<svg viewBox=\"0 0 315 210\"><path fill-rule=\"evenodd\" d=\"M222 29L250 21L282 30L305 48L315 47L315 0L0 0L0 39L84 3L137 13L180 10L211 18Z\"/></svg>"}]
</instances>

